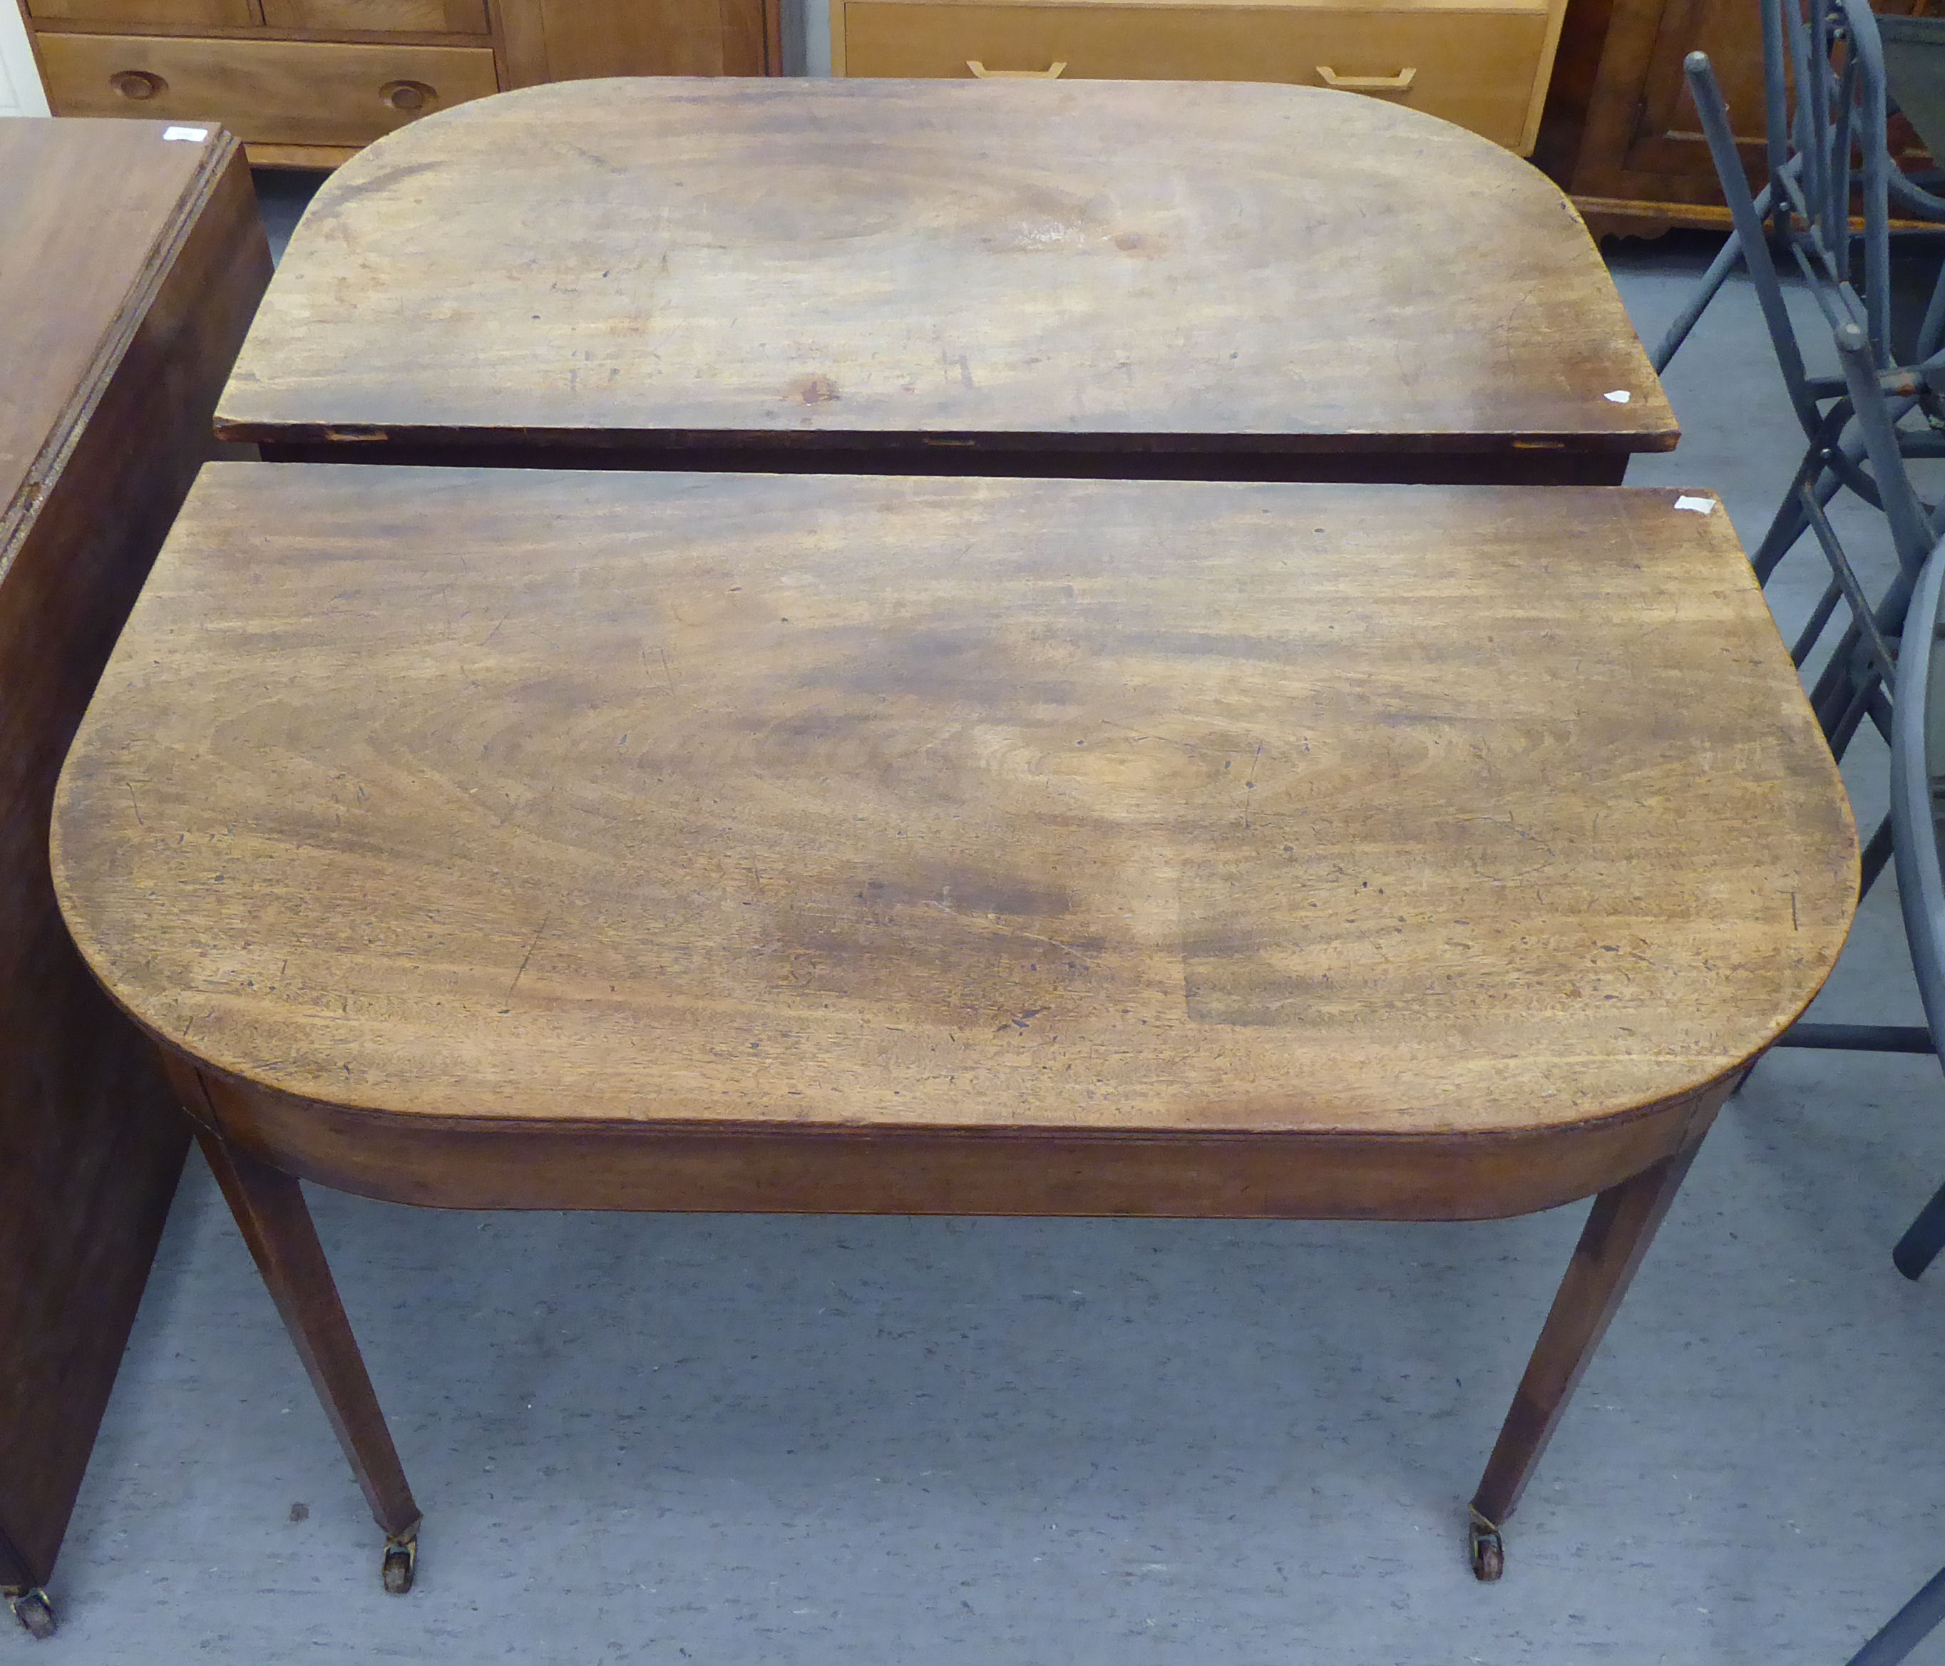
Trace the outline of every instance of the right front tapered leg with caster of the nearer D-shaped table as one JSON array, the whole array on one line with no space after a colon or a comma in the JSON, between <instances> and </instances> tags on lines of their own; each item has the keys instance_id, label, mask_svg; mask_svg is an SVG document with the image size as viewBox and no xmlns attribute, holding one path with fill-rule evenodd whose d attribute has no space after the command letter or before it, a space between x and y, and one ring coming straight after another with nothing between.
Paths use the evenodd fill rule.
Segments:
<instances>
[{"instance_id":1,"label":"right front tapered leg with caster of the nearer D-shaped table","mask_svg":"<svg viewBox=\"0 0 1945 1666\"><path fill-rule=\"evenodd\" d=\"M1500 1577L1505 1555L1500 1528L1519 1505L1698 1149L1700 1141L1593 1199L1568 1275L1560 1281L1472 1497L1472 1573L1480 1579Z\"/></svg>"}]
</instances>

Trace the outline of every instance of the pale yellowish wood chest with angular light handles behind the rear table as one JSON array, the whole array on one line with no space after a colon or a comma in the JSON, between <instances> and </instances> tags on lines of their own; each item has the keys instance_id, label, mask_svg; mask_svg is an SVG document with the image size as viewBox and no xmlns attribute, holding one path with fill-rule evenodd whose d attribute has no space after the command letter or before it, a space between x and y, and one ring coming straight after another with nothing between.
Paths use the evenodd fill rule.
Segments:
<instances>
[{"instance_id":1,"label":"pale yellowish wood chest with angular light handles behind the rear table","mask_svg":"<svg viewBox=\"0 0 1945 1666\"><path fill-rule=\"evenodd\" d=\"M1566 0L832 0L840 76L1295 82L1533 150Z\"/></svg>"}]
</instances>

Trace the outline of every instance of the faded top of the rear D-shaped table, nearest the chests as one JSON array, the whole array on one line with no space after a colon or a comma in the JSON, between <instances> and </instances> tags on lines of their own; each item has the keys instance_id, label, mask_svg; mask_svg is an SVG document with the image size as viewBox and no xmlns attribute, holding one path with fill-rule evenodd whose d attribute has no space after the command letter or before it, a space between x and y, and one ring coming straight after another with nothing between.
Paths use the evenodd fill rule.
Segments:
<instances>
[{"instance_id":1,"label":"faded top of the rear D-shaped table, nearest the chests","mask_svg":"<svg viewBox=\"0 0 1945 1666\"><path fill-rule=\"evenodd\" d=\"M218 428L1677 439L1579 216L1500 146L1319 87L1017 80L564 82L412 122L313 200Z\"/></svg>"}]
</instances>

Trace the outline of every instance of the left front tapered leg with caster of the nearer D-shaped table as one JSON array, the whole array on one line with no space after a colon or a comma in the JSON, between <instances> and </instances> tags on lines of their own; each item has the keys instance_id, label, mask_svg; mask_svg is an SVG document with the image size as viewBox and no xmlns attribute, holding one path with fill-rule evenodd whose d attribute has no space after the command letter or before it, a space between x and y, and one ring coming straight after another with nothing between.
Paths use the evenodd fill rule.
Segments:
<instances>
[{"instance_id":1,"label":"left front tapered leg with caster of the nearer D-shaped table","mask_svg":"<svg viewBox=\"0 0 1945 1666\"><path fill-rule=\"evenodd\" d=\"M181 1087L179 1071L171 1069L171 1075ZM200 1089L202 1083L196 1081L194 1087ZM418 1505L391 1444L385 1413L366 1374L303 1192L290 1174L257 1163L200 1118L194 1120L202 1155L257 1258L257 1271L276 1301L284 1330L290 1332L352 1474L364 1487L371 1516L385 1532L385 1590L403 1596L412 1588L418 1561Z\"/></svg>"}]
</instances>

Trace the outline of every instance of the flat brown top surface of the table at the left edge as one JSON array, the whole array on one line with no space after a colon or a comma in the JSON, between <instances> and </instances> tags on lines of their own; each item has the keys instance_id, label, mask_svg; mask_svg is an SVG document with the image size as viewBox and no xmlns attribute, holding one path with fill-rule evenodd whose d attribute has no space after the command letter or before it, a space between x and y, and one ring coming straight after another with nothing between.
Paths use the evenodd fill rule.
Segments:
<instances>
[{"instance_id":1,"label":"flat brown top surface of the table at the left edge","mask_svg":"<svg viewBox=\"0 0 1945 1666\"><path fill-rule=\"evenodd\" d=\"M235 152L216 126L167 130L0 121L0 573Z\"/></svg>"}]
</instances>

